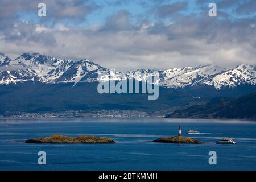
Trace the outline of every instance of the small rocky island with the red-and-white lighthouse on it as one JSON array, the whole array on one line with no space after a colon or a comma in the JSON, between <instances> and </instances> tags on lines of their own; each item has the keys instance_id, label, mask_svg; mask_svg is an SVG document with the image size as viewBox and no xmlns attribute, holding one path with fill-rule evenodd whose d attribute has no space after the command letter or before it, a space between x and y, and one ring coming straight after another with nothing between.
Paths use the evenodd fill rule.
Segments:
<instances>
[{"instance_id":1,"label":"small rocky island with the red-and-white lighthouse on it","mask_svg":"<svg viewBox=\"0 0 256 182\"><path fill-rule=\"evenodd\" d=\"M195 144L200 144L203 142L200 142L199 140L192 139L190 137L181 137L181 136L176 136L176 137L161 137L153 142L163 142L163 143L195 143Z\"/></svg>"}]
</instances>

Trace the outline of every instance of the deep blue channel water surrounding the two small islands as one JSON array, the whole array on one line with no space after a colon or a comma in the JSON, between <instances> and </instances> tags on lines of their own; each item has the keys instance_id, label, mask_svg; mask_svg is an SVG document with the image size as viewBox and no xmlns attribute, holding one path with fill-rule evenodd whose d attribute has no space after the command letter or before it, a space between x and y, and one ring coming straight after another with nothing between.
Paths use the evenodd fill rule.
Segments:
<instances>
[{"instance_id":1,"label":"deep blue channel water surrounding the two small islands","mask_svg":"<svg viewBox=\"0 0 256 182\"><path fill-rule=\"evenodd\" d=\"M5 127L5 123L9 126ZM155 143L199 129L205 144ZM52 134L97 135L116 144L27 144ZM228 137L237 144L216 144ZM38 164L46 151L47 165ZM217 165L209 165L209 151ZM256 122L217 119L0 119L0 170L256 170Z\"/></svg>"}]
</instances>

